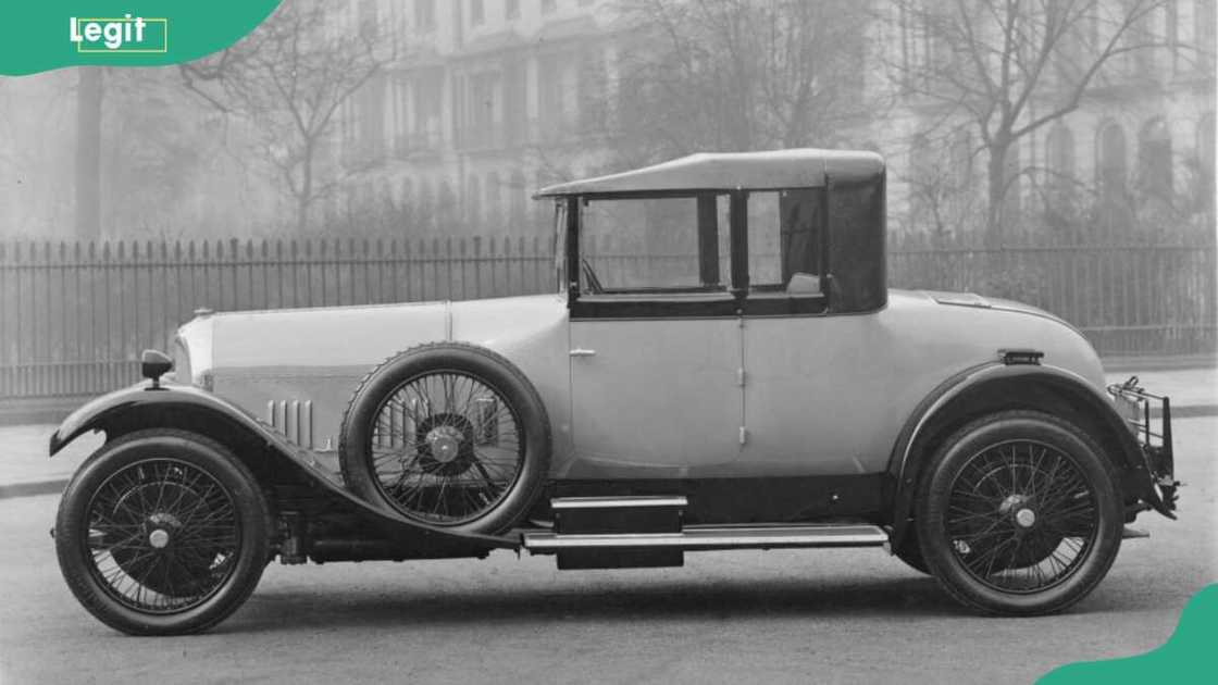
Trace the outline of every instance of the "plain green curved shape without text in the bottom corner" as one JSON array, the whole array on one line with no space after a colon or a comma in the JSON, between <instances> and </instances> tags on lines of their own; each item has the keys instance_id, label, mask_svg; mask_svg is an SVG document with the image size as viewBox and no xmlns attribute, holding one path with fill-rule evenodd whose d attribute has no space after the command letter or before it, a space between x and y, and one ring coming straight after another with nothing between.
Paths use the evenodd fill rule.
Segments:
<instances>
[{"instance_id":1,"label":"plain green curved shape without text in the bottom corner","mask_svg":"<svg viewBox=\"0 0 1218 685\"><path fill-rule=\"evenodd\" d=\"M1038 685L1218 683L1218 584L1189 600L1167 642L1136 657L1080 662L1049 672Z\"/></svg>"}]
</instances>

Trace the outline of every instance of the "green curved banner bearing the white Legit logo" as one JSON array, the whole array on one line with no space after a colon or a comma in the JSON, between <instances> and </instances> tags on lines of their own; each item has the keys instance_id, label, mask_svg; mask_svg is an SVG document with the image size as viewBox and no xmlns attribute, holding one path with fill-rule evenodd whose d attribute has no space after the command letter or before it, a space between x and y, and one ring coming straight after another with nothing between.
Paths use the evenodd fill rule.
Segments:
<instances>
[{"instance_id":1,"label":"green curved banner bearing the white Legit logo","mask_svg":"<svg viewBox=\"0 0 1218 685\"><path fill-rule=\"evenodd\" d=\"M0 74L189 62L233 45L278 5L279 0L9 2Z\"/></svg>"}]
</instances>

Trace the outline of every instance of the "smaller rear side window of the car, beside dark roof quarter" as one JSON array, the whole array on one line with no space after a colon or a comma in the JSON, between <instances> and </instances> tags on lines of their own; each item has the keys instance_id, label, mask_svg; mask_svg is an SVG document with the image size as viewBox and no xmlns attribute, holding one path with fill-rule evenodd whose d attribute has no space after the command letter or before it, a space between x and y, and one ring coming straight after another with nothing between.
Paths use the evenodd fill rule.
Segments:
<instances>
[{"instance_id":1,"label":"smaller rear side window of the car, beside dark roof quarter","mask_svg":"<svg viewBox=\"0 0 1218 685\"><path fill-rule=\"evenodd\" d=\"M749 194L752 291L820 295L822 197L817 188Z\"/></svg>"}]
</instances>

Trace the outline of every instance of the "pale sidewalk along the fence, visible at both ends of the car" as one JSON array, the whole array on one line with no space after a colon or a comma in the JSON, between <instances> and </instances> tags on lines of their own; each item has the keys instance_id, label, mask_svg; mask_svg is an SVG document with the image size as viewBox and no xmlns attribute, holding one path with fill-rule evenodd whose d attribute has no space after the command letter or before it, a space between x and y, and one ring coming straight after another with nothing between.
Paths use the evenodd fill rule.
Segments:
<instances>
[{"instance_id":1,"label":"pale sidewalk along the fence, visible at both ends of the car","mask_svg":"<svg viewBox=\"0 0 1218 685\"><path fill-rule=\"evenodd\" d=\"M1108 383L1136 375L1142 388L1172 399L1177 419L1218 417L1218 368L1112 372ZM0 427L0 497L55 494L63 489L76 468L101 446L101 434L86 434L48 458L46 447L55 424Z\"/></svg>"}]
</instances>

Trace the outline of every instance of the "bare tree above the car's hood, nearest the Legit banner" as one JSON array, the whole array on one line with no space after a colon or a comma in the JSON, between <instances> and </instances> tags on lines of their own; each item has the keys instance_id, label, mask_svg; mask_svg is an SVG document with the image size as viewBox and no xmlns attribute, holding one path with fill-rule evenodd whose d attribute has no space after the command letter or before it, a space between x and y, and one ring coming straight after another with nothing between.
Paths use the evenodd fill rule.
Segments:
<instances>
[{"instance_id":1,"label":"bare tree above the car's hood, nearest the Legit banner","mask_svg":"<svg viewBox=\"0 0 1218 685\"><path fill-rule=\"evenodd\" d=\"M361 171L324 163L322 152L339 112L396 56L375 15L361 16L354 30L343 32L333 21L334 11L323 0L284 2L233 48L179 67L189 90L222 112L253 122L263 156L296 207L301 232L313 205Z\"/></svg>"}]
</instances>

